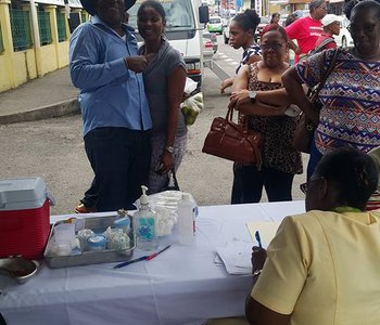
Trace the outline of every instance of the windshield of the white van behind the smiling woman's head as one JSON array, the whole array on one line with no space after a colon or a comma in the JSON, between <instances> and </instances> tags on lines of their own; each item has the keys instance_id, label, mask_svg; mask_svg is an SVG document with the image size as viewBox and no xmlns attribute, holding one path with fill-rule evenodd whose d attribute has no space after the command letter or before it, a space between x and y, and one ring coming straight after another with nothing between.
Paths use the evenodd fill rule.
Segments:
<instances>
[{"instance_id":1,"label":"windshield of the white van behind the smiling woman's head","mask_svg":"<svg viewBox=\"0 0 380 325\"><path fill-rule=\"evenodd\" d=\"M128 10L128 24L137 31L137 12L144 0L137 0ZM195 28L191 0L159 0L166 13L166 31Z\"/></svg>"}]
</instances>

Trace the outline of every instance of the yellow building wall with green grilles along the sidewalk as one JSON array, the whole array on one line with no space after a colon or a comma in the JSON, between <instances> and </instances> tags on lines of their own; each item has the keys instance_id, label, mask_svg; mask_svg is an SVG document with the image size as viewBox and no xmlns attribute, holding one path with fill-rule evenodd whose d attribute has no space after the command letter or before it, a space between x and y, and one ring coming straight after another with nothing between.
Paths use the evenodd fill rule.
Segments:
<instances>
[{"instance_id":1,"label":"yellow building wall with green grilles along the sidewalk","mask_svg":"<svg viewBox=\"0 0 380 325\"><path fill-rule=\"evenodd\" d=\"M67 66L71 25L87 20L79 0L0 0L0 92Z\"/></svg>"}]
</instances>

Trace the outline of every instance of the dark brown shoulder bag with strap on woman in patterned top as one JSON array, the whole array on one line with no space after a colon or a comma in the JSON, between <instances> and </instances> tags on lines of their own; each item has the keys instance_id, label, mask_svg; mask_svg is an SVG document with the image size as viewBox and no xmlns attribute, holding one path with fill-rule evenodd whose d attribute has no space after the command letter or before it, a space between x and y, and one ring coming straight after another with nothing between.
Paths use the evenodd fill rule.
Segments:
<instances>
[{"instance_id":1,"label":"dark brown shoulder bag with strap on woman in patterned top","mask_svg":"<svg viewBox=\"0 0 380 325\"><path fill-rule=\"evenodd\" d=\"M313 103L314 109L316 112L319 112L322 107L322 104L318 99L319 91L324 88L327 78L329 77L330 73L334 68L338 54L339 54L339 49L335 49L333 56L331 58L331 62L329 64L329 67L327 68L325 75L320 79L320 82L318 83L318 86L311 89L307 93L307 96L309 101ZM324 53L324 57L326 57L326 53ZM294 136L293 136L294 148L297 150L299 152L309 154L313 135L316 128L317 126L314 125L313 121L306 117L305 113L301 112L301 114L297 117L297 122L296 122Z\"/></svg>"}]
</instances>

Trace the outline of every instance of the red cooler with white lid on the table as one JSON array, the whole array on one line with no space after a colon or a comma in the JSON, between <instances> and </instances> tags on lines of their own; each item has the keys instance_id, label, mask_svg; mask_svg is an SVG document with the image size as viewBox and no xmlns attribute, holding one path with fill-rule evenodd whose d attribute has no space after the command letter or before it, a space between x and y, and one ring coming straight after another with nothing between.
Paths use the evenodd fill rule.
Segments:
<instances>
[{"instance_id":1,"label":"red cooler with white lid on the table","mask_svg":"<svg viewBox=\"0 0 380 325\"><path fill-rule=\"evenodd\" d=\"M0 258L41 258L49 232L50 197L45 181L0 179Z\"/></svg>"}]
</instances>

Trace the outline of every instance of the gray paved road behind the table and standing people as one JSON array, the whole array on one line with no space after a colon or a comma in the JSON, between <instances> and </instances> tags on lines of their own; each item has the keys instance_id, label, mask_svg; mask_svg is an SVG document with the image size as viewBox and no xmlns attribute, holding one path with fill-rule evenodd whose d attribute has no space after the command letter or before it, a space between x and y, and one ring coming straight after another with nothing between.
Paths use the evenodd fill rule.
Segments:
<instances>
[{"instance_id":1,"label":"gray paved road behind the table and standing people","mask_svg":"<svg viewBox=\"0 0 380 325\"><path fill-rule=\"evenodd\" d=\"M220 54L229 56L230 52L229 55L236 55L232 61L238 62L241 52L227 48L219 38L219 53L215 58L233 73L236 64L228 63L228 57ZM228 94L219 94L219 84L220 80L205 69L205 108L189 128L187 154L178 172L181 190L192 193L199 205L229 204L230 199L232 164L201 152L212 119L226 112ZM84 150L80 116L2 125L0 139L1 178L43 177L56 199L52 213L72 212L92 179ZM303 180L304 177L295 180L295 199L303 198L297 190Z\"/></svg>"}]
</instances>

